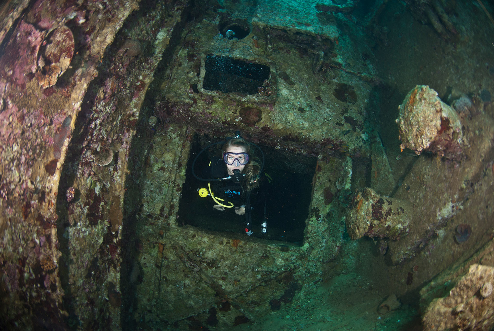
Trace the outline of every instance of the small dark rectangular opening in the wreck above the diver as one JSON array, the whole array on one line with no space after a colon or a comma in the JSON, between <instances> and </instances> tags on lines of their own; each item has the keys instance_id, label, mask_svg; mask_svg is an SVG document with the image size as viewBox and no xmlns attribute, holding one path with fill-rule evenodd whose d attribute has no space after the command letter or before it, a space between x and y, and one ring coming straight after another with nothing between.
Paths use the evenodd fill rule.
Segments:
<instances>
[{"instance_id":1,"label":"small dark rectangular opening in the wreck above the diver","mask_svg":"<svg viewBox=\"0 0 494 331\"><path fill-rule=\"evenodd\" d=\"M269 79L270 68L231 57L206 55L203 89L252 95Z\"/></svg>"}]
</instances>

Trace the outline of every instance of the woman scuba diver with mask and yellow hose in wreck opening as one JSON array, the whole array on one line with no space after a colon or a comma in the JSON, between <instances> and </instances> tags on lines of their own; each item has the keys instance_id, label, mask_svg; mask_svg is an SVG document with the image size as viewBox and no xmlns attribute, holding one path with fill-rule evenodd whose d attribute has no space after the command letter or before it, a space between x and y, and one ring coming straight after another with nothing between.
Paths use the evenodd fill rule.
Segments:
<instances>
[{"instance_id":1,"label":"woman scuba diver with mask and yellow hose in wreck opening","mask_svg":"<svg viewBox=\"0 0 494 331\"><path fill-rule=\"evenodd\" d=\"M201 177L194 171L195 162L199 155L215 144L223 144L221 156L213 156L206 168L201 171ZM255 146L262 154L263 160L254 156ZM192 173L200 181L208 183L208 189L198 189L202 197L210 196L213 199L212 208L225 211L234 208L237 215L245 215L245 232L248 236L251 230L252 192L258 190L263 175L264 153L255 144L247 142L236 132L234 138L226 142L215 142L204 148L194 159ZM257 194L256 194L257 195ZM266 233L266 222L262 222L262 232Z\"/></svg>"}]
</instances>

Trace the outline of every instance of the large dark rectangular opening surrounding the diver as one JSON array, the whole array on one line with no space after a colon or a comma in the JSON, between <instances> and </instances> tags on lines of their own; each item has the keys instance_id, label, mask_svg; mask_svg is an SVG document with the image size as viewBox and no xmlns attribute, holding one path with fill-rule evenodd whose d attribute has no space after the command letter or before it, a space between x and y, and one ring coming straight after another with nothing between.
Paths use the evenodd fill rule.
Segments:
<instances>
[{"instance_id":1,"label":"large dark rectangular opening surrounding the diver","mask_svg":"<svg viewBox=\"0 0 494 331\"><path fill-rule=\"evenodd\" d=\"M229 232L245 236L245 216L235 214L233 208L217 211L212 208L210 196L200 197L198 189L207 188L207 182L198 181L191 172L192 161L202 146L210 143L205 137L196 136L187 165L186 180L178 208L179 226L192 225L209 231ZM272 181L265 179L253 197L253 237L282 240L302 244L312 192L312 178L316 170L316 158L260 146L265 154L265 172ZM207 168L210 157L219 155L221 145L205 151L196 161L196 173ZM257 156L259 152L256 152ZM212 183L211 183L212 184ZM261 224L267 222L267 232Z\"/></svg>"}]
</instances>

